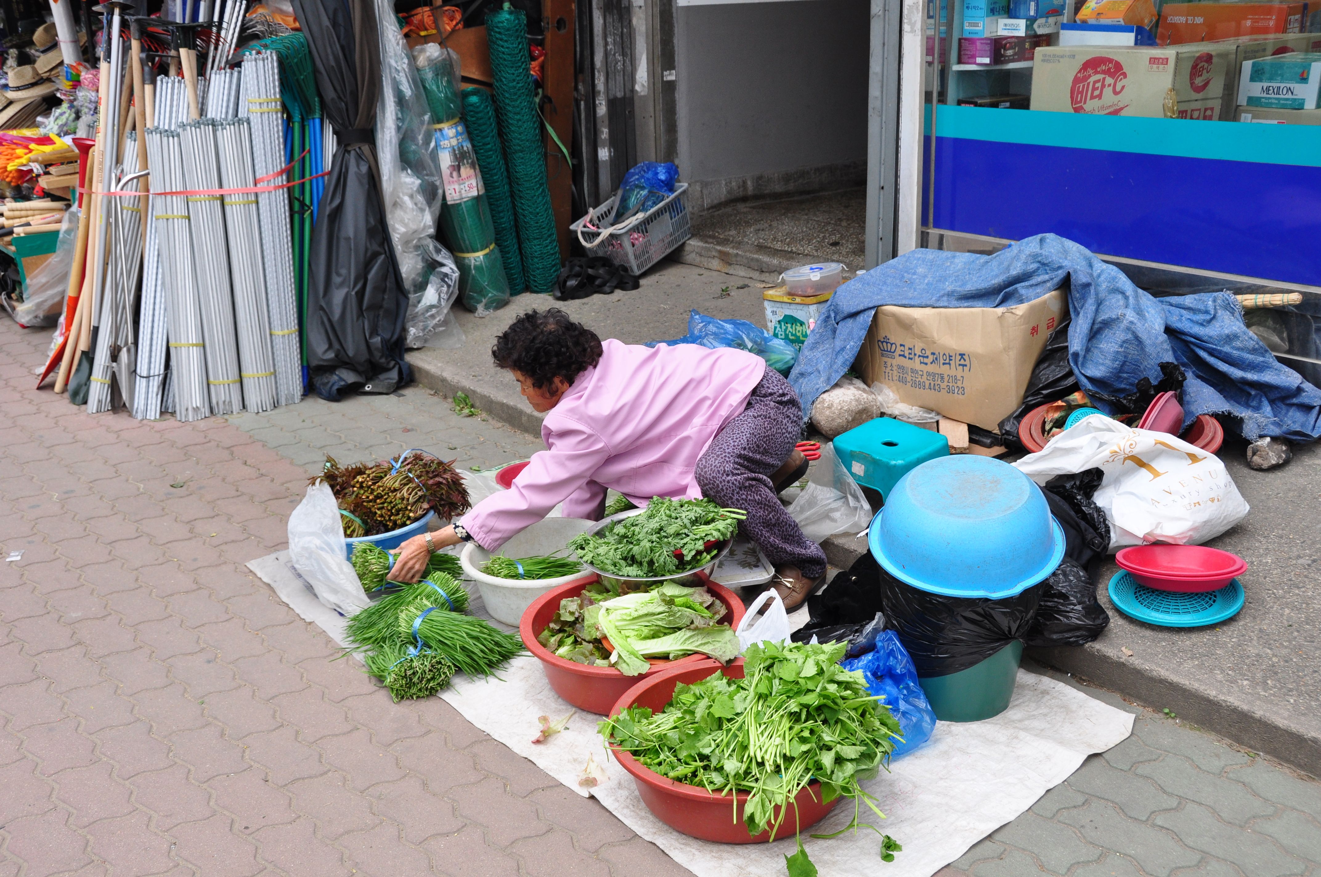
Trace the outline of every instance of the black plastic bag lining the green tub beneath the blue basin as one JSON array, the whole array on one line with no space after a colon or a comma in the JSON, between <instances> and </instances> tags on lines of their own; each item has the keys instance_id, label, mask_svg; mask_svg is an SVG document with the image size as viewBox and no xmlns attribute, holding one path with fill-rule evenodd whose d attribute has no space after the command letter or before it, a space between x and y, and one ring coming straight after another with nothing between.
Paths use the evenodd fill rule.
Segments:
<instances>
[{"instance_id":1,"label":"black plastic bag lining the green tub beneath the blue basin","mask_svg":"<svg viewBox=\"0 0 1321 877\"><path fill-rule=\"evenodd\" d=\"M868 571L875 576L886 627L898 634L922 678L967 670L1026 637L1046 585L1038 582L1001 600L945 597L894 579L871 553L859 557L849 573L856 572L861 584Z\"/></svg>"}]
</instances>

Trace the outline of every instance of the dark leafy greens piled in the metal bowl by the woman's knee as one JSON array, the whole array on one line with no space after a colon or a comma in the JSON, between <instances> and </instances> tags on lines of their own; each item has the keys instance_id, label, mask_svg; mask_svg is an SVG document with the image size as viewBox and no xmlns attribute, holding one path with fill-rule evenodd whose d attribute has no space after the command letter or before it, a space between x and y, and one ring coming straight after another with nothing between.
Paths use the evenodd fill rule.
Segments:
<instances>
[{"instance_id":1,"label":"dark leafy greens piled in the metal bowl by the woman's knee","mask_svg":"<svg viewBox=\"0 0 1321 877\"><path fill-rule=\"evenodd\" d=\"M575 536L568 547L583 563L612 576L674 576L711 563L716 549L707 543L733 536L745 516L745 511L721 509L709 499L655 497L641 515L617 520L596 535Z\"/></svg>"}]
</instances>

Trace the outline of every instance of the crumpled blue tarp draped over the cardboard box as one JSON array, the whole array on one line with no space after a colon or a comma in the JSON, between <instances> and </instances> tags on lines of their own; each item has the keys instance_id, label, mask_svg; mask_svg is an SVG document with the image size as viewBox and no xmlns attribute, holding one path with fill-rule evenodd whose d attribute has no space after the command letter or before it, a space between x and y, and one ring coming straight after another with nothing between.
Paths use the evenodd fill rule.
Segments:
<instances>
[{"instance_id":1,"label":"crumpled blue tarp draped over the cardboard box","mask_svg":"<svg viewBox=\"0 0 1321 877\"><path fill-rule=\"evenodd\" d=\"M1069 365L1083 390L1131 394L1141 378L1161 379L1161 362L1177 362L1188 376L1185 425L1202 413L1231 415L1248 440L1321 436L1321 390L1275 359L1243 324L1234 296L1155 298L1057 235L1026 238L991 256L914 250L841 285L789 376L803 420L816 396L852 367L876 308L1011 308L1066 281Z\"/></svg>"}]
</instances>

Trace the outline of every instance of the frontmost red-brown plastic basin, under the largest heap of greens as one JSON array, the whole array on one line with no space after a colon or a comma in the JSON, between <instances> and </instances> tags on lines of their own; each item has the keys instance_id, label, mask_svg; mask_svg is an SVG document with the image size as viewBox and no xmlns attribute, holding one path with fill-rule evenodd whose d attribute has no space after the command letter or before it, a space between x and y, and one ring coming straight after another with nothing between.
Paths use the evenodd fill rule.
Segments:
<instances>
[{"instance_id":1,"label":"frontmost red-brown plastic basin, under the largest heap of greens","mask_svg":"<svg viewBox=\"0 0 1321 877\"><path fill-rule=\"evenodd\" d=\"M651 712L660 712L670 703L670 699L674 697L675 685L679 683L691 685L717 672L724 672L731 679L742 679L742 658L728 667L721 667L720 662L709 658L692 664L675 662L654 676L647 674L642 682L620 697L618 703L610 708L610 715L618 716L633 705L646 707ZM662 777L654 770L643 767L631 753L624 752L617 746L610 746L610 749L614 752L614 757L620 761L620 765L633 775L633 781L638 785L638 795L642 796L642 803L647 806L647 810L657 819L675 831L682 831L701 840L712 840L717 844L756 844L771 840L770 831L764 831L760 835L748 833L748 827L742 822L748 792L736 792L733 795L737 800L736 804L728 794L717 795L700 786L675 782L668 777ZM840 800L843 799L836 798L828 804L822 803L820 783L811 783L794 798L795 806L791 806L789 812L785 814L785 822L781 823L775 836L793 837L795 832L806 831L824 819ZM775 808L771 825L779 818L779 807Z\"/></svg>"}]
</instances>

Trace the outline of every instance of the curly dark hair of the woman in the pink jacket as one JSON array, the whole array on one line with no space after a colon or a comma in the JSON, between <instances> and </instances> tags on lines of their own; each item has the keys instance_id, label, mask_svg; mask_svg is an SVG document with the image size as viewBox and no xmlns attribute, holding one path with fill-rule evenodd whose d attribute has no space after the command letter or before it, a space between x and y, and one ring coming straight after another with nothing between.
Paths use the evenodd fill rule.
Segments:
<instances>
[{"instance_id":1,"label":"curly dark hair of the woman in the pink jacket","mask_svg":"<svg viewBox=\"0 0 1321 877\"><path fill-rule=\"evenodd\" d=\"M509 325L491 346L501 368L511 368L546 390L555 378L569 384L601 362L601 339L559 308L528 310Z\"/></svg>"}]
</instances>

